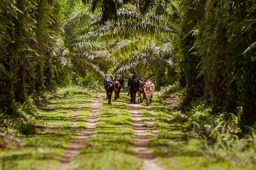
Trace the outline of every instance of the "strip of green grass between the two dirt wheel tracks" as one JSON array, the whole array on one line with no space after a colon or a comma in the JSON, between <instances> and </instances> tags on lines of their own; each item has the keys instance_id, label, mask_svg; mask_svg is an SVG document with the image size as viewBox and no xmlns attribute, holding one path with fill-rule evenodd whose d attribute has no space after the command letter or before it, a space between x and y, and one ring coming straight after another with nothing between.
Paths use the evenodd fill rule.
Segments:
<instances>
[{"instance_id":1,"label":"strip of green grass between the two dirt wheel tracks","mask_svg":"<svg viewBox=\"0 0 256 170\"><path fill-rule=\"evenodd\" d=\"M85 147L73 160L80 170L140 170L141 162L132 150L132 119L126 108L128 98L124 94L108 105L102 99L97 113L94 134L85 141ZM86 160L86 161L85 161Z\"/></svg>"}]
</instances>

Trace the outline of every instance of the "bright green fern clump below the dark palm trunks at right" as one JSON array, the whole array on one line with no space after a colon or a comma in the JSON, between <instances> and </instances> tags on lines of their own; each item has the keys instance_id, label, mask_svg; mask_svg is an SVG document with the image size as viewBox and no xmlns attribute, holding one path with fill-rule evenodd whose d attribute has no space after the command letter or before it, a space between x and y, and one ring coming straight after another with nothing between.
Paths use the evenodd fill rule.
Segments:
<instances>
[{"instance_id":1,"label":"bright green fern clump below the dark palm trunks at right","mask_svg":"<svg viewBox=\"0 0 256 170\"><path fill-rule=\"evenodd\" d=\"M195 137L210 139L212 142L216 142L220 137L223 140L238 138L236 135L241 132L238 125L239 117L233 113L212 115L211 111L210 106L201 103L187 113L188 122L192 128L190 134Z\"/></svg>"}]
</instances>

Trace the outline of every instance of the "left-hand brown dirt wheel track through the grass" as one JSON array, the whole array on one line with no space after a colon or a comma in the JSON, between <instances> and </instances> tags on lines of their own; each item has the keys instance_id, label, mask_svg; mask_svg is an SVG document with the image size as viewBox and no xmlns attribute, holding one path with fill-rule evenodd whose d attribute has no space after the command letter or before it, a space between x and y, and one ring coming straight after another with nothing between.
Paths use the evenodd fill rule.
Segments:
<instances>
[{"instance_id":1,"label":"left-hand brown dirt wheel track through the grass","mask_svg":"<svg viewBox=\"0 0 256 170\"><path fill-rule=\"evenodd\" d=\"M86 129L78 129L79 133L66 147L66 151L61 157L61 164L58 170L72 170L70 161L80 152L82 148L86 147L86 145L84 144L84 140L88 139L93 134L93 131L96 128L96 124L97 124L96 112L99 111L99 105L101 101L102 101L102 95L97 96L97 98L93 100L90 107L91 108L90 116L87 119L87 123L86 123ZM76 111L82 108L83 105L84 104L82 103L76 110L74 110L74 113L71 116L71 121L73 122L73 128L77 128L77 125L76 125L77 112Z\"/></svg>"}]
</instances>

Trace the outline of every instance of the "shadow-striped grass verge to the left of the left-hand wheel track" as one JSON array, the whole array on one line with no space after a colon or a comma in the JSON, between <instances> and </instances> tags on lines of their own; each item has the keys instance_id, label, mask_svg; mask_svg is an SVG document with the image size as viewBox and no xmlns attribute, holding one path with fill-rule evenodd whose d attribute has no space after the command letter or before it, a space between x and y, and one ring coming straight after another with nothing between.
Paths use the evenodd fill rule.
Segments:
<instances>
[{"instance_id":1,"label":"shadow-striped grass verge to the left of the left-hand wheel track","mask_svg":"<svg viewBox=\"0 0 256 170\"><path fill-rule=\"evenodd\" d=\"M85 128L90 113L90 102L95 96L89 95L85 89L78 91L61 89L61 98L53 99L47 107L39 111L40 126L35 135L20 136L24 146L20 150L0 151L0 167L10 170L55 170L64 148L73 139L76 130L70 117L73 110L82 102L81 110L77 111L77 125ZM65 96L65 97L64 97Z\"/></svg>"}]
</instances>

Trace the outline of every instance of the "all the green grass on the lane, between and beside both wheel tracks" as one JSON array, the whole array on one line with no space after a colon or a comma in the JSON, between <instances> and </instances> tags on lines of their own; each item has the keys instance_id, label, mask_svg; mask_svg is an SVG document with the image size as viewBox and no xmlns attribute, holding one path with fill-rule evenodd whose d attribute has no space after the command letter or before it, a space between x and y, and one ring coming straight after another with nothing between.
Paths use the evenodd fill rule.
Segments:
<instances>
[{"instance_id":1,"label":"all the green grass on the lane, between and beside both wheel tracks","mask_svg":"<svg viewBox=\"0 0 256 170\"><path fill-rule=\"evenodd\" d=\"M55 170L65 147L77 130L71 115L77 111L77 126L86 128L90 104L95 96L90 91L76 88L60 89L60 98L53 99L39 111L37 134L20 136L24 146L20 150L0 150L0 167L7 170ZM105 95L105 94L104 94ZM126 107L129 98L121 94L118 101L108 105L102 99L97 113L94 134L84 141L71 165L76 170L140 170L142 162L134 155L132 118ZM145 101L142 104L145 106ZM188 113L178 107L167 107L161 97L154 95L151 111L142 108L143 122L156 115L149 147L158 164L166 170L253 170L256 167L255 143L248 140L210 142L190 135ZM192 112L190 111L189 114ZM150 134L149 130L146 133ZM224 136L227 138L228 136Z\"/></svg>"}]
</instances>

